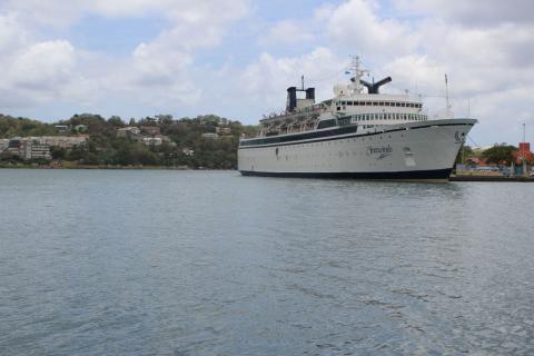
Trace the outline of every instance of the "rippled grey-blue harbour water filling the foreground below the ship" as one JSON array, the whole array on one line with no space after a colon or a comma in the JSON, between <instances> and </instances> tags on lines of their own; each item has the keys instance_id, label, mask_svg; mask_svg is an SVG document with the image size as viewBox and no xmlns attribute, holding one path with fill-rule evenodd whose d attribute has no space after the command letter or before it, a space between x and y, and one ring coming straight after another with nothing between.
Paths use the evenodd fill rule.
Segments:
<instances>
[{"instance_id":1,"label":"rippled grey-blue harbour water filling the foreground below the ship","mask_svg":"<svg viewBox=\"0 0 534 356\"><path fill-rule=\"evenodd\" d=\"M0 354L532 355L534 186L0 171Z\"/></svg>"}]
</instances>

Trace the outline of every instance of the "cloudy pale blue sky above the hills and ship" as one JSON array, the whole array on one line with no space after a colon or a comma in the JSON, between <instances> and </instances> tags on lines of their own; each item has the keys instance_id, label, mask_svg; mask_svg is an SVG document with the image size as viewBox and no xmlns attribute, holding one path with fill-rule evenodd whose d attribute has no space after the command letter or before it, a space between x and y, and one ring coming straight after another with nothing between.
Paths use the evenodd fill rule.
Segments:
<instances>
[{"instance_id":1,"label":"cloudy pale blue sky above the hills and ship","mask_svg":"<svg viewBox=\"0 0 534 356\"><path fill-rule=\"evenodd\" d=\"M534 141L531 0L0 0L0 112L215 113L255 125L305 76L317 99L350 56L431 116L479 120L469 145Z\"/></svg>"}]
</instances>

